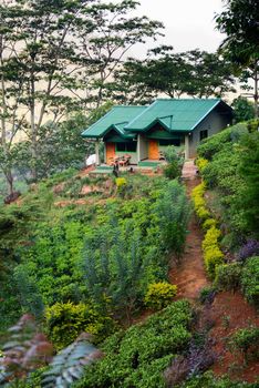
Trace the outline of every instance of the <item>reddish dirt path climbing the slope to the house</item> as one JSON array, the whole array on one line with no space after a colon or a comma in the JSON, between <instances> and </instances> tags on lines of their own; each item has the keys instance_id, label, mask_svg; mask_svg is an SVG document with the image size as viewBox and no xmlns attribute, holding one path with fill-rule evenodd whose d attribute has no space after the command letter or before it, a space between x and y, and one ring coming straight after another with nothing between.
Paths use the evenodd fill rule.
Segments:
<instances>
[{"instance_id":1,"label":"reddish dirt path climbing the slope to the house","mask_svg":"<svg viewBox=\"0 0 259 388\"><path fill-rule=\"evenodd\" d=\"M186 162L183 169L183 178L185 180L187 194L190 195L193 188L200 182L197 177L197 170L194 162ZM178 287L178 298L196 299L201 288L209 284L203 261L201 251L203 233L195 218L188 225L188 235L186 238L186 248L180 265L173 263L169 272L169 280Z\"/></svg>"}]
</instances>

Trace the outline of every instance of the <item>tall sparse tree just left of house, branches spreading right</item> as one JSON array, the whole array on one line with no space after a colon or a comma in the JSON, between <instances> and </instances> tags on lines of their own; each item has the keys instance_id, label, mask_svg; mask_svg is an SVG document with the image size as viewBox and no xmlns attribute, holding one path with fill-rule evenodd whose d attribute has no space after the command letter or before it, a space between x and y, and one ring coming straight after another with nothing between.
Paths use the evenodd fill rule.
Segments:
<instances>
[{"instance_id":1,"label":"tall sparse tree just left of house, branches spreading right","mask_svg":"<svg viewBox=\"0 0 259 388\"><path fill-rule=\"evenodd\" d=\"M94 3L87 9L87 16L94 33L80 25L81 51L85 58L82 84L86 88L86 101L95 106L107 96L105 86L121 68L123 57L136 43L145 43L162 34L163 23L147 17L128 17L138 6L135 0L122 0L116 3ZM110 95L110 94L108 94Z\"/></svg>"}]
</instances>

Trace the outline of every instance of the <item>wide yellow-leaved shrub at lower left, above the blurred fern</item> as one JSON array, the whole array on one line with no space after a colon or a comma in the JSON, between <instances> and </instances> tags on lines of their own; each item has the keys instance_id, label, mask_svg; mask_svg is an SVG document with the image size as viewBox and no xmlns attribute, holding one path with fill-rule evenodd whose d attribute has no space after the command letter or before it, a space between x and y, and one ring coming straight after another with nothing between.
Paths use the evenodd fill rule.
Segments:
<instances>
[{"instance_id":1,"label":"wide yellow-leaved shrub at lower left, above the blurred fern","mask_svg":"<svg viewBox=\"0 0 259 388\"><path fill-rule=\"evenodd\" d=\"M113 324L108 317L101 316L91 305L73 305L56 303L45 310L45 326L49 337L56 347L62 349L86 331L100 340L111 330Z\"/></svg>"}]
</instances>

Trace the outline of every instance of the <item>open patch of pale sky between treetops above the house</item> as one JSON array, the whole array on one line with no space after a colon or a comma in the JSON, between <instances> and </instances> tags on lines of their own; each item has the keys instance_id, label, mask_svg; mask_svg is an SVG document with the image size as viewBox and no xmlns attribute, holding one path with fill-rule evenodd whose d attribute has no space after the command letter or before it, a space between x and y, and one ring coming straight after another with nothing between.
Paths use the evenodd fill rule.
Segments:
<instances>
[{"instance_id":1,"label":"open patch of pale sky between treetops above the house","mask_svg":"<svg viewBox=\"0 0 259 388\"><path fill-rule=\"evenodd\" d=\"M224 35L215 30L214 21L215 14L222 10L221 0L139 0L139 2L137 14L162 21L165 24L165 38L159 38L158 42L173 45L175 51L196 48L215 51L224 39ZM148 43L146 48L137 47L134 53L144 54L151 44Z\"/></svg>"}]
</instances>

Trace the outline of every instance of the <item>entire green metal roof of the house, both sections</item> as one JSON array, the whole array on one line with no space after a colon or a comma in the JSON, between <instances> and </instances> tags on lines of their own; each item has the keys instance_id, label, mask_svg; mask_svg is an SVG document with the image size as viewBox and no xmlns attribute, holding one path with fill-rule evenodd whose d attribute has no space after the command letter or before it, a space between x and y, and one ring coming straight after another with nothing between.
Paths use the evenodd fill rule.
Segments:
<instances>
[{"instance_id":1,"label":"entire green metal roof of the house, both sections","mask_svg":"<svg viewBox=\"0 0 259 388\"><path fill-rule=\"evenodd\" d=\"M189 132L218 105L231 111L220 99L159 99L149 106L114 106L82 136L101 139L115 130L123 139L131 140L136 132L146 132L156 123L169 133Z\"/></svg>"}]
</instances>

